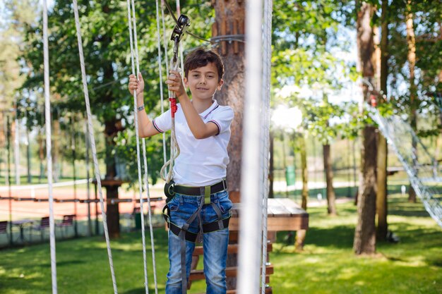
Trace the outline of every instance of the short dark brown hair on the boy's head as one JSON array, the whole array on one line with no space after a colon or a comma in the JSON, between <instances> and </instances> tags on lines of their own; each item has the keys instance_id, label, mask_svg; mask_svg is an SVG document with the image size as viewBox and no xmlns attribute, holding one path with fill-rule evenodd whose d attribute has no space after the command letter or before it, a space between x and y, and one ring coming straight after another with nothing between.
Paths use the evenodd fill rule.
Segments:
<instances>
[{"instance_id":1,"label":"short dark brown hair on the boy's head","mask_svg":"<svg viewBox=\"0 0 442 294\"><path fill-rule=\"evenodd\" d=\"M189 71L207 66L208 63L213 63L217 68L219 82L222 79L222 75L224 75L224 65L222 64L221 56L215 51L203 47L199 47L187 54L184 60L184 76L187 78Z\"/></svg>"}]
</instances>

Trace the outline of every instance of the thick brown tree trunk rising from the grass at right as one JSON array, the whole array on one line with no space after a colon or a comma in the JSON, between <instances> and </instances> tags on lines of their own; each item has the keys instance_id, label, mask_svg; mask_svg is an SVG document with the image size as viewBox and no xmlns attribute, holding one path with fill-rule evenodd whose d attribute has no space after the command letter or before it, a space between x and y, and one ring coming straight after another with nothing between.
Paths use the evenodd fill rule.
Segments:
<instances>
[{"instance_id":1,"label":"thick brown tree trunk rising from the grass at right","mask_svg":"<svg viewBox=\"0 0 442 294\"><path fill-rule=\"evenodd\" d=\"M359 7L357 1L357 7ZM357 46L362 77L374 84L376 59L374 48L374 28L371 18L374 7L366 2L357 13ZM369 89L364 87L364 104L369 102ZM354 231L353 250L357 255L374 254L376 252L376 128L365 125L362 130L361 148L361 186L357 202L358 221Z\"/></svg>"}]
</instances>

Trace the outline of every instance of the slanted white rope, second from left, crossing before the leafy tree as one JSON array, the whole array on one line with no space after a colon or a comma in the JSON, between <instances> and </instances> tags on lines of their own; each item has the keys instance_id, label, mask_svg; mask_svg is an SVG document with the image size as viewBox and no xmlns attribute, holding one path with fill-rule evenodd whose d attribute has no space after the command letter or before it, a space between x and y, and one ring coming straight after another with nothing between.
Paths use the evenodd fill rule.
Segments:
<instances>
[{"instance_id":1,"label":"slanted white rope, second from left, crossing before the leafy tree","mask_svg":"<svg viewBox=\"0 0 442 294\"><path fill-rule=\"evenodd\" d=\"M94 160L95 178L97 179L98 195L100 196L100 207L103 219L104 237L106 238L107 256L109 257L109 267L112 276L112 285L114 286L114 294L118 294L117 281L115 280L114 262L112 260L112 251L109 241L109 232L107 231L107 216L104 212L103 192L101 185L100 167L98 166L97 149L95 147L95 137L92 127L92 114L90 112L89 92L88 92L88 80L86 78L85 59L83 55L83 42L81 40L80 20L78 17L77 0L73 0L73 13L76 20L77 41L78 41L78 54L80 56L80 68L81 68L81 80L83 82L83 91L85 94L86 114L88 114L88 128L89 128L89 142L92 147L92 158Z\"/></svg>"}]
</instances>

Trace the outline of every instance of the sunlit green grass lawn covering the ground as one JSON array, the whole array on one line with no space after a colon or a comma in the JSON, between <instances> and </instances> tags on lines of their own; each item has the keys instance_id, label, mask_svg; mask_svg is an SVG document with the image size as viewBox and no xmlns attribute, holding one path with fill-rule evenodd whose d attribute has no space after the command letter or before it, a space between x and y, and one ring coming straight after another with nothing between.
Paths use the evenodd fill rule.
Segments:
<instances>
[{"instance_id":1,"label":"sunlit green grass lawn covering the ground","mask_svg":"<svg viewBox=\"0 0 442 294\"><path fill-rule=\"evenodd\" d=\"M399 243L378 243L375 257L352 252L356 207L338 204L339 216L328 217L325 207L309 209L310 228L304 252L296 252L287 232L277 235L270 253L275 294L414 294L442 293L442 231L422 207L404 197L390 197L389 228ZM147 243L150 244L148 234ZM155 231L159 293L165 293L167 235ZM145 293L141 233L126 233L112 240L119 293ZM149 284L153 291L150 247ZM112 293L106 243L101 237L56 243L59 293ZM51 293L49 246L34 245L0 251L0 293ZM189 293L204 292L203 281Z\"/></svg>"}]
</instances>

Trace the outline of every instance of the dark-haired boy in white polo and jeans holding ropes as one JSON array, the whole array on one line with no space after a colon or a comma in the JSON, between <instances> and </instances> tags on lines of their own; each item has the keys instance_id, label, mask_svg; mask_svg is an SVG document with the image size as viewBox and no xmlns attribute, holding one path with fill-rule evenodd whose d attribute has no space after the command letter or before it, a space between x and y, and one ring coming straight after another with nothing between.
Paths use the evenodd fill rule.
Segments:
<instances>
[{"instance_id":1,"label":"dark-haired boy in white polo and jeans holding ropes","mask_svg":"<svg viewBox=\"0 0 442 294\"><path fill-rule=\"evenodd\" d=\"M225 294L225 267L229 241L228 221L232 202L225 180L229 157L229 106L220 106L213 96L223 84L224 66L213 51L198 48L184 62L184 85L178 71L170 71L166 84L179 99L175 132L181 150L175 159L169 209L169 273L166 294L186 293L192 252L198 232L203 233L204 274L208 294ZM170 109L150 121L143 104L141 74L129 76L129 92L136 90L138 130L150 137L170 130ZM173 197L172 197L173 195ZM184 265L185 264L185 265ZM184 272L186 274L184 274Z\"/></svg>"}]
</instances>

